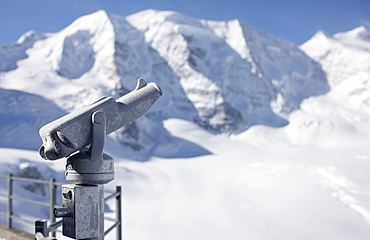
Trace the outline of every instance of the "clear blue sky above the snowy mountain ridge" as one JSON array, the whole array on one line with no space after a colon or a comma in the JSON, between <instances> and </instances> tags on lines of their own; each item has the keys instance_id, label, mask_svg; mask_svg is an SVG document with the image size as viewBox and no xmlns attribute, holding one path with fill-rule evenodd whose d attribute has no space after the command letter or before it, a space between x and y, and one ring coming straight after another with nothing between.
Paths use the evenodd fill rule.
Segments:
<instances>
[{"instance_id":1,"label":"clear blue sky above the snowy mountain ridge","mask_svg":"<svg viewBox=\"0 0 370 240\"><path fill-rule=\"evenodd\" d=\"M297 45L318 30L333 34L370 26L370 0L0 0L0 46L29 30L57 32L100 9L127 16L148 8L208 20L239 19Z\"/></svg>"}]
</instances>

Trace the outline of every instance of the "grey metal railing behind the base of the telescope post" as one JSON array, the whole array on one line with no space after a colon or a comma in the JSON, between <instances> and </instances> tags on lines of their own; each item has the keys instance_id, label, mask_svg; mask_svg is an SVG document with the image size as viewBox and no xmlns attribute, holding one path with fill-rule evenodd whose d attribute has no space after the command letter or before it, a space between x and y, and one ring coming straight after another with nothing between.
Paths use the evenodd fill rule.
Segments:
<instances>
[{"instance_id":1,"label":"grey metal railing behind the base of the telescope post","mask_svg":"<svg viewBox=\"0 0 370 240\"><path fill-rule=\"evenodd\" d=\"M12 174L8 174L7 176L0 175L0 179L1 178L7 180L7 194L0 193L0 197L7 198L7 212L0 211L0 215L5 216L7 219L7 227L12 228L13 220L16 220L19 222L24 222L24 223L35 225L35 231L42 233L45 237L48 236L50 233L52 237L55 237L56 235L55 231L62 224L62 221L56 222L56 218L54 216L54 208L57 207L56 189L58 186L62 186L63 183L56 182L54 178L51 178L49 181L45 181L45 180L34 179L34 178L17 177L17 176L13 176ZM13 182L14 181L32 182L32 183L48 185L49 193L50 193L49 203L34 201L34 200L15 196L13 193ZM110 226L104 232L104 236L106 236L114 228L117 228L116 229L116 239L121 240L122 239L122 208L121 208L122 192L121 192L121 187L117 186L115 191L114 190L104 190L104 192L110 194L104 198L104 202L111 200L111 199L116 199L115 218L111 218L107 216L104 217L105 220L114 222L113 225ZM30 220L22 219L18 216L15 216L13 214L13 210L14 210L13 201L14 200L48 207L49 208L49 223L50 223L49 227L47 226L47 220L30 221Z\"/></svg>"}]
</instances>

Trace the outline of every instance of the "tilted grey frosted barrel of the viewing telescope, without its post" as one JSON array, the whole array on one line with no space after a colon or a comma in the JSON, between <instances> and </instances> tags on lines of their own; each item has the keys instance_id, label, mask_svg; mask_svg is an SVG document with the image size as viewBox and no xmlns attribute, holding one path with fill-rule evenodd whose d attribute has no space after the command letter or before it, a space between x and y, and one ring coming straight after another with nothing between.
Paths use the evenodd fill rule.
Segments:
<instances>
[{"instance_id":1,"label":"tilted grey frosted barrel of the viewing telescope, without its post","mask_svg":"<svg viewBox=\"0 0 370 240\"><path fill-rule=\"evenodd\" d=\"M105 114L108 135L144 115L162 94L156 83L146 83L139 79L135 90L117 100L103 97L46 124L39 131L43 141L41 157L47 160L60 159L91 144L94 112Z\"/></svg>"}]
</instances>

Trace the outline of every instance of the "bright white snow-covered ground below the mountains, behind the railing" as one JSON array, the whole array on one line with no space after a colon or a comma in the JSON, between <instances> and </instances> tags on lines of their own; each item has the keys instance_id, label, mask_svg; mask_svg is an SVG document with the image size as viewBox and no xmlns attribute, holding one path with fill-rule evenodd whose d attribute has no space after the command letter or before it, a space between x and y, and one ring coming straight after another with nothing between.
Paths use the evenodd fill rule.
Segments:
<instances>
[{"instance_id":1,"label":"bright white snow-covered ground below the mountains, behind the railing","mask_svg":"<svg viewBox=\"0 0 370 240\"><path fill-rule=\"evenodd\" d=\"M210 152L199 157L139 162L112 152L116 179L107 188L123 186L125 239L367 239L370 129L340 111L316 111L325 120L307 121L311 128L255 126L231 137L167 120L172 135ZM294 118L307 123L303 111ZM2 174L33 165L64 178L64 160L33 151L3 148L0 162ZM40 210L15 206L25 216Z\"/></svg>"}]
</instances>

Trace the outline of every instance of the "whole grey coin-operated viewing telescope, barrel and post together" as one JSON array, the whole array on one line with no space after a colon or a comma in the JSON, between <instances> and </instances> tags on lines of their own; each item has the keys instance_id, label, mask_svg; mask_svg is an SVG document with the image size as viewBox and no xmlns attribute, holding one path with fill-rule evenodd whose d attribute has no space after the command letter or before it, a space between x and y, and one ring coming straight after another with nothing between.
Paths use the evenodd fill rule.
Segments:
<instances>
[{"instance_id":1,"label":"whole grey coin-operated viewing telescope, barrel and post together","mask_svg":"<svg viewBox=\"0 0 370 240\"><path fill-rule=\"evenodd\" d=\"M106 135L143 116L162 96L156 83L139 79L135 90L115 100L103 97L40 129L46 160L67 158L62 186L63 235L75 239L104 239L103 184L114 179L113 159L103 153Z\"/></svg>"}]
</instances>

